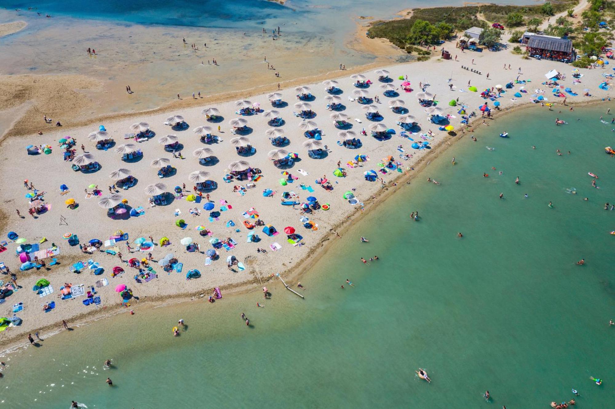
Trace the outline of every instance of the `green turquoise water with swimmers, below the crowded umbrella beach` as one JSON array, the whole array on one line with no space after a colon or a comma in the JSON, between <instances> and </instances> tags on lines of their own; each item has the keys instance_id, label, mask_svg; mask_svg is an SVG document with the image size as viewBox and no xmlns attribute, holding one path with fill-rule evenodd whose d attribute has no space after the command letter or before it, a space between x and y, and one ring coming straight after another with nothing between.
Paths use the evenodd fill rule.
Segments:
<instances>
[{"instance_id":1,"label":"green turquoise water with swimmers, below the crowded umbrella beach","mask_svg":"<svg viewBox=\"0 0 615 409\"><path fill-rule=\"evenodd\" d=\"M328 244L301 278L305 300L272 282L264 308L255 290L63 332L10 358L0 400L11 408L71 400L89 408L476 408L488 405L488 389L488 407L514 409L569 400L574 387L577 407L610 407L615 211L603 205L615 202L615 159L604 147L615 146L615 133L598 120L606 107L536 107L491 122L477 142L464 138ZM555 127L555 117L569 123ZM504 130L510 138L497 136ZM416 210L421 220L412 222ZM373 255L380 260L360 262ZM176 338L180 318L188 329ZM116 367L103 370L106 358ZM416 378L418 367L431 384Z\"/></svg>"}]
</instances>

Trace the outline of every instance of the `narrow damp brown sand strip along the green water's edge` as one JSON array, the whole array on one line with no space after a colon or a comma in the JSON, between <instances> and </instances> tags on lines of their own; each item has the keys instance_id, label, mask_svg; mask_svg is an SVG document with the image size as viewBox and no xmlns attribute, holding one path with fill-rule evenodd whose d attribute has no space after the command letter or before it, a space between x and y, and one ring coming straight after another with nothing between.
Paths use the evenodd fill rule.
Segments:
<instances>
[{"instance_id":1,"label":"narrow damp brown sand strip along the green water's edge","mask_svg":"<svg viewBox=\"0 0 615 409\"><path fill-rule=\"evenodd\" d=\"M582 107L590 107L596 106L599 104L606 104L608 101L603 99L591 99L588 101L584 101L584 103L571 103L568 106L582 108ZM523 111L529 111L530 108L533 107L531 103L525 103L518 106L509 107L504 109L501 114L498 115L498 118L503 117L504 115L514 115L520 114ZM482 124L479 123L480 118L475 118L472 122L468 124L470 128L479 128L482 127ZM327 246L326 244L332 244L336 239L336 233L343 235L353 224L360 221L365 216L371 214L371 212L376 211L381 204L384 203L389 197L395 195L402 190L405 185L411 184L417 178L424 176L424 173L428 170L427 166L440 157L440 155L445 154L448 149L453 147L456 143L460 142L462 139L467 138L468 134L462 133L457 134L452 139L442 139L438 141L432 147L432 150L429 150L427 155L419 158L416 163L413 163L412 171L405 171L402 174L399 174L388 181L387 186L381 187L378 189L372 197L368 200L364 200L365 208L362 212L355 212L349 217L343 217L338 220L334 225L329 229L329 233L323 236L317 243L312 244L310 247L308 254L304 255L302 259L296 262L294 267L289 267L284 271L280 271L279 275L285 277L285 281L289 286L296 284L296 282L300 281L304 277L309 275L309 270L313 267L313 265L322 257L324 257L331 249L331 246ZM395 186L394 184L397 184ZM260 275L260 273L259 273ZM260 286L266 283L272 283L274 281L278 281L275 277L264 277L265 281L259 281L256 278L250 279L248 281L239 282L236 284L230 285L221 285L220 289L224 292L224 297L240 297L245 294L255 293L260 291ZM279 287L277 290L282 290L282 287ZM135 306L135 308L160 308L168 305L177 305L183 303L189 303L198 301L201 298L207 297L207 292L203 289L199 289L192 292L181 292L173 295L164 295L159 297L145 296L141 298L141 301ZM87 313L76 314L71 318L71 326L79 327L82 325L89 325L93 322L100 321L101 319L110 319L118 314L129 313L129 308L122 308L122 306L109 308L103 308L100 310L93 310ZM52 335L55 335L62 331L62 321L52 322L50 324L45 325L38 329L38 332L41 332L41 335L48 338ZM5 356L7 354L15 353L19 348L27 347L28 342L18 341L20 338L23 338L25 332L14 333L11 337L6 337L2 339L2 349L0 350L0 356ZM6 335L6 332L3 334Z\"/></svg>"}]
</instances>

